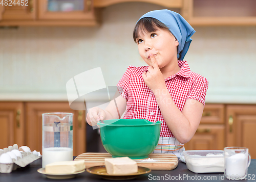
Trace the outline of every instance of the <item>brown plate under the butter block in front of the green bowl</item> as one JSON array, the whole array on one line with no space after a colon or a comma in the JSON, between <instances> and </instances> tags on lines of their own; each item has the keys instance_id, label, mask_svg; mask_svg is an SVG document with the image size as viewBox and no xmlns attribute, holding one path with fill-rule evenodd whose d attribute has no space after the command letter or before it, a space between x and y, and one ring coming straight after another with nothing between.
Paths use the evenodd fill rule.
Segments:
<instances>
[{"instance_id":1,"label":"brown plate under the butter block in front of the green bowl","mask_svg":"<svg viewBox=\"0 0 256 182\"><path fill-rule=\"evenodd\" d=\"M100 175L104 179L111 179L111 180L122 180L122 179L134 179L138 175L146 174L151 172L151 169L145 168L145 167L138 167L137 173L131 173L131 174L108 174L106 173L105 166L94 166L86 169L87 172L90 172L92 174Z\"/></svg>"}]
</instances>

